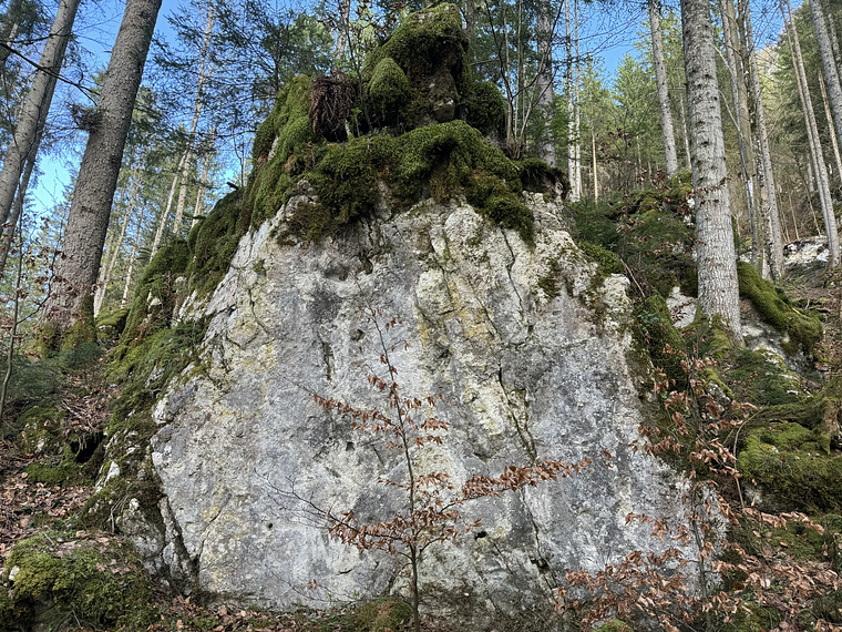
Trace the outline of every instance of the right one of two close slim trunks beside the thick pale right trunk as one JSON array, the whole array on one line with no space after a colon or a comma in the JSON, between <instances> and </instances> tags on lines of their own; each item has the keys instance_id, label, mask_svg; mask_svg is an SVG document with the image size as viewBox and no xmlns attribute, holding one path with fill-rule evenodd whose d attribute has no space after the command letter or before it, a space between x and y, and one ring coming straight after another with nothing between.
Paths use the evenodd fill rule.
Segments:
<instances>
[{"instance_id":1,"label":"right one of two close slim trunks beside the thick pale right trunk","mask_svg":"<svg viewBox=\"0 0 842 632\"><path fill-rule=\"evenodd\" d=\"M772 171L772 153L769 150L769 133L766 126L763 95L760 89L760 71L757 68L754 54L754 29L751 23L751 7L748 0L739 0L740 22L745 27L743 51L748 58L749 75L751 78L751 94L754 101L754 139L757 141L760 167L757 170L760 200L766 218L767 257L772 278L783 274L783 244L781 242L781 214L778 207L778 193Z\"/></svg>"}]
</instances>

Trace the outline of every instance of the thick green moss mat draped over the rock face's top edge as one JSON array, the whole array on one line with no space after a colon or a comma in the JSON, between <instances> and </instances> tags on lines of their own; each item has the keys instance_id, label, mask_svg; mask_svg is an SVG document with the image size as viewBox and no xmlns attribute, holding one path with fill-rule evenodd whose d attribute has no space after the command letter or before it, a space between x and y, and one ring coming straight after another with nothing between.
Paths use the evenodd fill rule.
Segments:
<instances>
[{"instance_id":1,"label":"thick green moss mat draped over the rock face's top edge","mask_svg":"<svg viewBox=\"0 0 842 632\"><path fill-rule=\"evenodd\" d=\"M478 210L532 243L532 212L521 196L517 165L464 121L429 125L398 137L374 136L331 144L306 174L319 204L292 210L279 237L307 241L336 234L370 216L384 183L398 205L409 206L425 195L445 202L465 195Z\"/></svg>"}]
</instances>

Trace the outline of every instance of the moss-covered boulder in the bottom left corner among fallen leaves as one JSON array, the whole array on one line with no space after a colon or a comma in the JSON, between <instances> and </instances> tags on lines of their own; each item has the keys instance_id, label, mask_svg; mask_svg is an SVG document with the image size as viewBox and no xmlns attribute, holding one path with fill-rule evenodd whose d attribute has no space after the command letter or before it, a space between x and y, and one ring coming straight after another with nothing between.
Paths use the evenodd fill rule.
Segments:
<instances>
[{"instance_id":1,"label":"moss-covered boulder in the bottom left corner among fallen leaves","mask_svg":"<svg viewBox=\"0 0 842 632\"><path fill-rule=\"evenodd\" d=\"M145 630L155 618L148 574L131 546L109 536L52 531L23 540L2 583L0 630Z\"/></svg>"}]
</instances>

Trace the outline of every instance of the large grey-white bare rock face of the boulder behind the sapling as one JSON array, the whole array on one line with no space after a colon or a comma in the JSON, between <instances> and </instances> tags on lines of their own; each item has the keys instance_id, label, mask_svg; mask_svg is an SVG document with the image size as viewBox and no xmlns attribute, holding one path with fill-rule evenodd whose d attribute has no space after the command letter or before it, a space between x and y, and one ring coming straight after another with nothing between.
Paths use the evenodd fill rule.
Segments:
<instances>
[{"instance_id":1,"label":"large grey-white bare rock face of the boulder behind the sapling","mask_svg":"<svg viewBox=\"0 0 842 632\"><path fill-rule=\"evenodd\" d=\"M397 214L381 205L317 244L280 245L274 235L309 195L243 237L209 300L181 310L209 326L204 359L154 408L144 476L160 478L163 497L125 502L117 520L150 567L275 608L408 593L399 561L331 540L310 511L376 521L402 510L400 490L377 482L405 480L399 450L309 395L386 409L367 380L384 377L372 307L402 319L388 333L409 345L392 353L401 393L441 395L435 416L451 425L442 446L413 453L418 471L460 486L509 465L593 460L573 478L466 503L482 527L431 547L421 565L437 614L470 613L476 629L525 620L552 606L564 569L663 547L626 524L629 512L680 519L685 486L629 446L644 405L627 281L597 273L555 204L525 194L534 246L464 202L432 200Z\"/></svg>"}]
</instances>

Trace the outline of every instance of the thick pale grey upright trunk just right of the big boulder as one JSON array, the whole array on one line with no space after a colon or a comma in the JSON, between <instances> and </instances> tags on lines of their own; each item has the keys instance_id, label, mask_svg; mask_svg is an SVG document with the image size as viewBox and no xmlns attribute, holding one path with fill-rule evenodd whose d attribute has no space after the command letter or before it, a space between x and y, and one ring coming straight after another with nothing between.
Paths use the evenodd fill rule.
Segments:
<instances>
[{"instance_id":1,"label":"thick pale grey upright trunk just right of the big boulder","mask_svg":"<svg viewBox=\"0 0 842 632\"><path fill-rule=\"evenodd\" d=\"M741 340L737 254L707 0L681 0L681 27L696 191L699 310L707 318L719 316L728 334Z\"/></svg>"}]
</instances>

